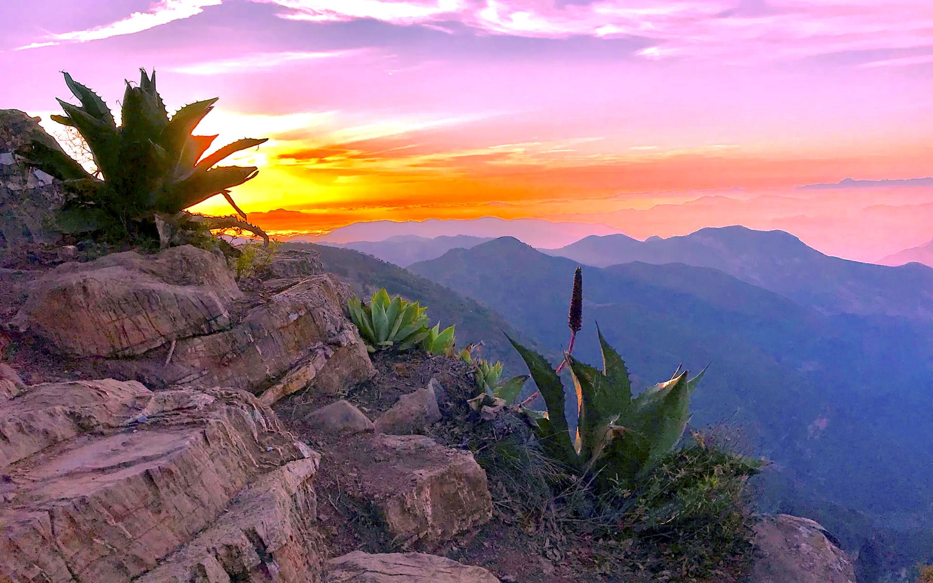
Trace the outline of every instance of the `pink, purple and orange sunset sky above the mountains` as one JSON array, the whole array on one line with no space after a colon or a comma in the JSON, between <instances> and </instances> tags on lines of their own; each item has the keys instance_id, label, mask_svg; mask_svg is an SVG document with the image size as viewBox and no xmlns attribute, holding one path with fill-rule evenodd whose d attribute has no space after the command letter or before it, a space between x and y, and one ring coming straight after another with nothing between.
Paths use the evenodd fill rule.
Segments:
<instances>
[{"instance_id":1,"label":"pink, purple and orange sunset sky above the mountains","mask_svg":"<svg viewBox=\"0 0 933 583\"><path fill-rule=\"evenodd\" d=\"M933 239L933 187L795 188L933 175L930 0L0 1L0 107L50 128L61 71L117 108L141 66L170 110L221 98L217 144L271 138L234 198L278 231L741 223L861 260Z\"/></svg>"}]
</instances>

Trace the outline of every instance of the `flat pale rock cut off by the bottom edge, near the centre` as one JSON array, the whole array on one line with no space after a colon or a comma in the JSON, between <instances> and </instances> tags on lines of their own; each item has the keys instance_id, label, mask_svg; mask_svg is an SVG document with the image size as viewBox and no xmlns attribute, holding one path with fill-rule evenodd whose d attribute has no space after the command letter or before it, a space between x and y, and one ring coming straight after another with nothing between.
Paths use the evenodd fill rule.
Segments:
<instances>
[{"instance_id":1,"label":"flat pale rock cut off by the bottom edge, near the centre","mask_svg":"<svg viewBox=\"0 0 933 583\"><path fill-rule=\"evenodd\" d=\"M370 555L357 550L331 559L325 583L498 583L481 567L422 552Z\"/></svg>"}]
</instances>

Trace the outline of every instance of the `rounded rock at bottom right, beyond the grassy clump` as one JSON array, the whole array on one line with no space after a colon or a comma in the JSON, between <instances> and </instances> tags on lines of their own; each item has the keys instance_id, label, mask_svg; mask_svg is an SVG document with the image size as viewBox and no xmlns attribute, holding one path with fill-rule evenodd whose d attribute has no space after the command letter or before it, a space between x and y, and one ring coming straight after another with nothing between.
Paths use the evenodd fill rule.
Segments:
<instances>
[{"instance_id":1,"label":"rounded rock at bottom right, beyond the grassy clump","mask_svg":"<svg viewBox=\"0 0 933 583\"><path fill-rule=\"evenodd\" d=\"M856 583L856 574L817 522L765 515L755 525L755 564L748 583Z\"/></svg>"}]
</instances>

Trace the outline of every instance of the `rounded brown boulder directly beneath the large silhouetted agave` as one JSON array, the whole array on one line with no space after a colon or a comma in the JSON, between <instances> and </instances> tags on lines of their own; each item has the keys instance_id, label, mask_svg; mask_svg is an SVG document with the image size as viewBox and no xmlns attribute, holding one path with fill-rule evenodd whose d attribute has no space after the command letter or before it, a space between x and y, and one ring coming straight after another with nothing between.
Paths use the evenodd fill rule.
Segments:
<instances>
[{"instance_id":1,"label":"rounded brown boulder directly beneath the large silhouetted agave","mask_svg":"<svg viewBox=\"0 0 933 583\"><path fill-rule=\"evenodd\" d=\"M223 257L191 245L128 251L49 271L7 327L71 356L132 356L230 327L240 296Z\"/></svg>"}]
</instances>

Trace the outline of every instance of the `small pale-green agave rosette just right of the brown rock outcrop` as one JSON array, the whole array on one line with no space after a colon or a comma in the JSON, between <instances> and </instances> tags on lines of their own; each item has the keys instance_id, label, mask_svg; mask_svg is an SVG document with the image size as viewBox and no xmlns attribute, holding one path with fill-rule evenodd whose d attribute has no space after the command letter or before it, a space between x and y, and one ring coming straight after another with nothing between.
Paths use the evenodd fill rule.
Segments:
<instances>
[{"instance_id":1,"label":"small pale-green agave rosette just right of the brown rock outcrop","mask_svg":"<svg viewBox=\"0 0 933 583\"><path fill-rule=\"evenodd\" d=\"M390 299L384 288L372 295L369 305L364 305L358 298L350 298L347 306L350 318L359 328L370 353L391 346L406 350L425 340L429 334L427 308L419 306L417 301L410 302L398 296Z\"/></svg>"}]
</instances>

